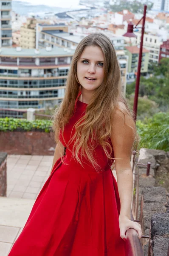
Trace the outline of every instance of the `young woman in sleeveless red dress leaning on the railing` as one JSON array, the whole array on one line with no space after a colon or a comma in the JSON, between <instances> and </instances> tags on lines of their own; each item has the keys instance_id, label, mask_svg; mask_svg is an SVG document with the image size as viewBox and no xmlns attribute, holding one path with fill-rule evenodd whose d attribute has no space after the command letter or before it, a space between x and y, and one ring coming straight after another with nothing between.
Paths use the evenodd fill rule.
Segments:
<instances>
[{"instance_id":1,"label":"young woman in sleeveless red dress leaning on the railing","mask_svg":"<svg viewBox=\"0 0 169 256\"><path fill-rule=\"evenodd\" d=\"M51 175L9 256L125 256L126 230L142 236L130 220L130 155L138 135L104 34L77 46L54 131Z\"/></svg>"}]
</instances>

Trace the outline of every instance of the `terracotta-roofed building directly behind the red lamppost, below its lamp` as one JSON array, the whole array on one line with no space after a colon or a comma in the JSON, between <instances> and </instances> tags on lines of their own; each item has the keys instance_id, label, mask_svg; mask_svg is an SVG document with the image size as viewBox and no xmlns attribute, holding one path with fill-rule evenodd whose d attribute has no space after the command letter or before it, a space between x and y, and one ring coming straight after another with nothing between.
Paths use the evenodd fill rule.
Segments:
<instances>
[{"instance_id":1,"label":"terracotta-roofed building directly behind the red lamppost, below its lamp","mask_svg":"<svg viewBox=\"0 0 169 256\"><path fill-rule=\"evenodd\" d=\"M138 57L140 49L137 46L127 46L126 55L129 57L127 79L135 78L138 69ZM149 50L143 48L141 61L141 74L146 76L148 72Z\"/></svg>"}]
</instances>

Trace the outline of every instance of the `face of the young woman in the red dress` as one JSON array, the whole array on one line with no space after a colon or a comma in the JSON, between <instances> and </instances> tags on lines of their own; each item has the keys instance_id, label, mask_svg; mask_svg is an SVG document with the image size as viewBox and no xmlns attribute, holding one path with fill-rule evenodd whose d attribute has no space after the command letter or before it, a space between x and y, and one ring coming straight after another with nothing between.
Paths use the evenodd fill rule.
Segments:
<instances>
[{"instance_id":1,"label":"face of the young woman in the red dress","mask_svg":"<svg viewBox=\"0 0 169 256\"><path fill-rule=\"evenodd\" d=\"M77 78L82 90L95 90L104 80L104 55L98 46L87 46L77 61Z\"/></svg>"}]
</instances>

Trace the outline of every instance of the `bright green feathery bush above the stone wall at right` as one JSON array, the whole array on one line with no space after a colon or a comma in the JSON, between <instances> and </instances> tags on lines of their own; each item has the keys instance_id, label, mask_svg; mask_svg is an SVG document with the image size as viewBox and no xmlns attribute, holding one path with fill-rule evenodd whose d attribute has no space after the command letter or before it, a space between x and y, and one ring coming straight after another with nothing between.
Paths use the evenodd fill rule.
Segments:
<instances>
[{"instance_id":1,"label":"bright green feathery bush above the stone wall at right","mask_svg":"<svg viewBox=\"0 0 169 256\"><path fill-rule=\"evenodd\" d=\"M169 113L156 113L144 122L138 120L136 125L141 147L169 151Z\"/></svg>"}]
</instances>

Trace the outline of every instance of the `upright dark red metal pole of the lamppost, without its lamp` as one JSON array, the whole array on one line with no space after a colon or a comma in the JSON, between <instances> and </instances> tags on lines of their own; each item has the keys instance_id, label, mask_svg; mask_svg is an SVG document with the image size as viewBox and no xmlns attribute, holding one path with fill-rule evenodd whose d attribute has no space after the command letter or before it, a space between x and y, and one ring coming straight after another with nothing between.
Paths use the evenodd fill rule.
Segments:
<instances>
[{"instance_id":1,"label":"upright dark red metal pole of the lamppost, without its lamp","mask_svg":"<svg viewBox=\"0 0 169 256\"><path fill-rule=\"evenodd\" d=\"M140 83L140 73L141 73L141 59L142 59L142 51L143 51L143 38L144 38L144 26L146 20L146 5L144 6L144 15L143 15L143 26L141 29L141 43L140 43L140 52L138 59L138 70L137 70L137 79L135 83L135 96L134 96L134 106L133 106L133 118L136 122L137 119L137 105L138 105L138 92L139 92L139 83Z\"/></svg>"}]
</instances>

